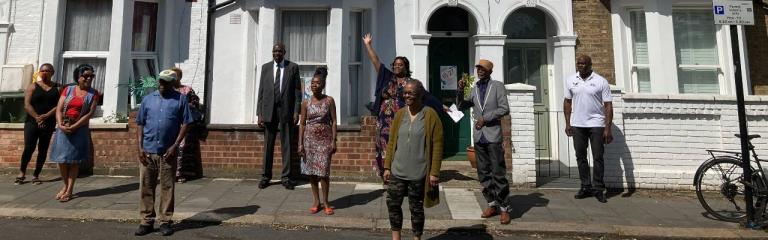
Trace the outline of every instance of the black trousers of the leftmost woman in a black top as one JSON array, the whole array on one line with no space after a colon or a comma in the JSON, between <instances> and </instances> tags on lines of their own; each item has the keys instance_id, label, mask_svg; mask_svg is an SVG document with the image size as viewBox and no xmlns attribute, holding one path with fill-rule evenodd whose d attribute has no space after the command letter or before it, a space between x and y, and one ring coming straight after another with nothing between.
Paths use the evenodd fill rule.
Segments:
<instances>
[{"instance_id":1,"label":"black trousers of the leftmost woman in a black top","mask_svg":"<svg viewBox=\"0 0 768 240\"><path fill-rule=\"evenodd\" d=\"M24 123L24 152L21 154L21 167L19 168L21 172L27 172L27 165L32 160L32 153L37 147L37 162L35 162L35 173L32 176L40 175L45 159L48 157L51 136L53 136L53 128L39 128L34 122Z\"/></svg>"}]
</instances>

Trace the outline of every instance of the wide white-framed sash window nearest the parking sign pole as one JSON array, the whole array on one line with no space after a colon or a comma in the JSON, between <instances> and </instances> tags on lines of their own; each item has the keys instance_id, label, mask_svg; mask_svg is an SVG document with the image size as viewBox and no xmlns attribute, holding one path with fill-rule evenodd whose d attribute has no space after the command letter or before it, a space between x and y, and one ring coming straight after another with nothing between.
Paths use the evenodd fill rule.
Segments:
<instances>
[{"instance_id":1,"label":"wide white-framed sash window nearest the parking sign pole","mask_svg":"<svg viewBox=\"0 0 768 240\"><path fill-rule=\"evenodd\" d=\"M709 9L673 9L680 93L720 93L715 24Z\"/></svg>"}]
</instances>

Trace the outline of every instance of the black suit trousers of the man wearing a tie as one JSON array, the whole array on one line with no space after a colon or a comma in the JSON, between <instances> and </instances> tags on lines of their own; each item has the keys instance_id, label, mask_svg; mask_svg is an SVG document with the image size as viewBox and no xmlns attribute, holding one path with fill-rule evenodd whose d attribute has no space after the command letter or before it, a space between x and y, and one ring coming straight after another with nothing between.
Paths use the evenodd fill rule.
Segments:
<instances>
[{"instance_id":1,"label":"black suit trousers of the man wearing a tie","mask_svg":"<svg viewBox=\"0 0 768 240\"><path fill-rule=\"evenodd\" d=\"M272 179L272 161L274 159L275 139L278 133L280 134L280 146L282 148L283 170L280 174L280 180L290 180L291 176L291 132L293 131L292 121L279 120L277 113L280 109L275 108L275 116L271 122L264 123L264 173L261 175L262 180ZM279 131L278 131L279 130Z\"/></svg>"}]
</instances>

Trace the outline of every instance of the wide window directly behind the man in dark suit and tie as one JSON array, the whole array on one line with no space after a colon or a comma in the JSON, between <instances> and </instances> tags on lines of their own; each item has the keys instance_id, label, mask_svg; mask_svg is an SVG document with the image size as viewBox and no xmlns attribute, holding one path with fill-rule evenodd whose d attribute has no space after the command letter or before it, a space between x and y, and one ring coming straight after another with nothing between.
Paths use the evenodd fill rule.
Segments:
<instances>
[{"instance_id":1,"label":"wide window directly behind the man in dark suit and tie","mask_svg":"<svg viewBox=\"0 0 768 240\"><path fill-rule=\"evenodd\" d=\"M315 68L327 65L328 11L283 11L281 24L280 39L285 44L286 58L299 64L304 98L308 98Z\"/></svg>"}]
</instances>

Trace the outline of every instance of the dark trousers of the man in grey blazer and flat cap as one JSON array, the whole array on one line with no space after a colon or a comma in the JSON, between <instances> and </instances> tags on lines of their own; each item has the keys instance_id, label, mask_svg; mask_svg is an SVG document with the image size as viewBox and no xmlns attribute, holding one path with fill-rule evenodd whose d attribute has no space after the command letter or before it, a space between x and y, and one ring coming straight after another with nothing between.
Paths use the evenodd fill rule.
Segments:
<instances>
[{"instance_id":1,"label":"dark trousers of the man in grey blazer and flat cap","mask_svg":"<svg viewBox=\"0 0 768 240\"><path fill-rule=\"evenodd\" d=\"M483 186L483 197L488 203L507 209L509 181L501 143L475 143L477 179Z\"/></svg>"}]
</instances>

